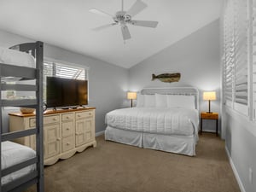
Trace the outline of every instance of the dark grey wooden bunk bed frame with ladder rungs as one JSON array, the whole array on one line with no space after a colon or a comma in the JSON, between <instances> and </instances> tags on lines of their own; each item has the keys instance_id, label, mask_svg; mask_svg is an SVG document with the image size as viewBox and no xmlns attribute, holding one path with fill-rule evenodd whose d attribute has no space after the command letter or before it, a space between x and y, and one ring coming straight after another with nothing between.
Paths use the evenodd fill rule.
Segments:
<instances>
[{"instance_id":1,"label":"dark grey wooden bunk bed frame with ladder rungs","mask_svg":"<svg viewBox=\"0 0 256 192\"><path fill-rule=\"evenodd\" d=\"M11 84L2 84L0 82L0 98L1 90L9 90L12 88L13 90L32 90L36 91L36 99L35 100L20 100L20 101L8 101L1 100L0 102L0 125L1 125L1 134L0 134L0 143L3 141L12 140L17 137L26 137L30 135L36 135L36 157L23 161L15 166L10 166L9 168L0 170L0 177L4 177L11 172L15 172L24 168L26 166L31 166L36 164L37 169L30 174L15 179L15 181L11 183L4 184L0 187L0 191L17 191L20 192L30 185L37 183L37 191L44 192L44 129L43 129L43 59L44 59L44 47L42 42L29 43L20 45L21 51L26 51L26 49L32 49L32 54L35 54L36 58L36 69L26 68L26 67L16 67L16 66L8 66L5 64L0 65L0 80L4 75L13 77L20 77L25 79L36 79L36 85L11 85ZM26 71L27 70L27 71ZM19 73L17 73L17 71ZM3 113L2 108L5 106L14 106L14 107L29 107L36 108L36 127L34 129L25 130L25 131L15 131L3 133ZM2 150L2 146L0 145L0 150ZM0 160L0 164L2 162Z\"/></svg>"}]
</instances>

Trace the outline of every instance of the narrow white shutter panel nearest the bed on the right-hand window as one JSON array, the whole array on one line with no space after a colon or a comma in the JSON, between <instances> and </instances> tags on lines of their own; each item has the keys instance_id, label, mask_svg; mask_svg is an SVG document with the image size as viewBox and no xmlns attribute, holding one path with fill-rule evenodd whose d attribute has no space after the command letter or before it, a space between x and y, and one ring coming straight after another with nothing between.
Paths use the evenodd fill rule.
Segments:
<instances>
[{"instance_id":1,"label":"narrow white shutter panel nearest the bed on the right-hand window","mask_svg":"<svg viewBox=\"0 0 256 192\"><path fill-rule=\"evenodd\" d=\"M226 105L233 102L235 66L235 32L233 1L228 1L224 14L224 99Z\"/></svg>"}]
</instances>

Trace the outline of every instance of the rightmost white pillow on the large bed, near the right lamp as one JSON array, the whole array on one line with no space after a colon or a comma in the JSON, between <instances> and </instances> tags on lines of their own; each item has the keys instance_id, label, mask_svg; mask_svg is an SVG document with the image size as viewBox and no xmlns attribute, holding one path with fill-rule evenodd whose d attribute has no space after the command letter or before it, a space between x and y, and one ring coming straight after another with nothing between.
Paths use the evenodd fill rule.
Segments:
<instances>
[{"instance_id":1,"label":"rightmost white pillow on the large bed, near the right lamp","mask_svg":"<svg viewBox=\"0 0 256 192\"><path fill-rule=\"evenodd\" d=\"M195 108L195 96L167 96L168 108Z\"/></svg>"}]
</instances>

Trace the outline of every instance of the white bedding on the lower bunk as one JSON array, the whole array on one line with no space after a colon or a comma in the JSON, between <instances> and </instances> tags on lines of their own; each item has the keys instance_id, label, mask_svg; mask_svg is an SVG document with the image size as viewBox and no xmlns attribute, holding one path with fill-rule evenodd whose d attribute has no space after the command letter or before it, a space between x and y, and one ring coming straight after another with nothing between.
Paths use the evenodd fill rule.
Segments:
<instances>
[{"instance_id":1,"label":"white bedding on the lower bunk","mask_svg":"<svg viewBox=\"0 0 256 192\"><path fill-rule=\"evenodd\" d=\"M36 156L36 152L32 148L20 145L18 143L3 142L1 143L1 169L8 168L9 166L14 166L22 161L29 160ZM1 184L9 183L16 178L22 177L29 172L36 169L35 165L26 166L17 172L12 172L5 176L1 180Z\"/></svg>"}]
</instances>

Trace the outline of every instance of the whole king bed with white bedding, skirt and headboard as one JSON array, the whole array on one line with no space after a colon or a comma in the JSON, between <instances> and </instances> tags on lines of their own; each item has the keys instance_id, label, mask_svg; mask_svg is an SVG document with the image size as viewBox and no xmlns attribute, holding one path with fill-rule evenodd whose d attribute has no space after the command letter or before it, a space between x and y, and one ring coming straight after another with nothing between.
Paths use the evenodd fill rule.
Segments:
<instances>
[{"instance_id":1,"label":"whole king bed with white bedding, skirt and headboard","mask_svg":"<svg viewBox=\"0 0 256 192\"><path fill-rule=\"evenodd\" d=\"M105 139L194 156L198 100L195 87L143 89L137 94L136 108L121 108L106 114Z\"/></svg>"}]
</instances>

